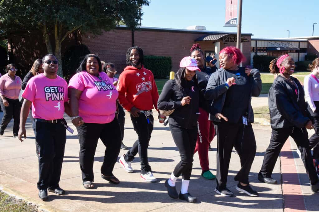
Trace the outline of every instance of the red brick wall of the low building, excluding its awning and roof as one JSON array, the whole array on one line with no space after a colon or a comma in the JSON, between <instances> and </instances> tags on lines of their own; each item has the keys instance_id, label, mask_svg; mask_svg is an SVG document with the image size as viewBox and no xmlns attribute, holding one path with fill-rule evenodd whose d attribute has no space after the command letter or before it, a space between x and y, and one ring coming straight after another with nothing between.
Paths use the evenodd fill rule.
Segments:
<instances>
[{"instance_id":1,"label":"red brick wall of the low building, excluding its awning and roof","mask_svg":"<svg viewBox=\"0 0 319 212\"><path fill-rule=\"evenodd\" d=\"M194 40L203 36L202 33L185 32L163 32L163 31L136 31L135 46L140 46L145 55L170 56L172 57L172 71L177 71L180 60L190 54L190 48ZM90 38L89 38L90 37ZM245 64L250 62L250 37L249 42L243 43L243 52L247 58ZM82 43L85 44L91 53L99 55L101 60L113 62L118 71L122 71L125 64L127 49L132 45L132 35L130 30L116 29L104 32L102 35L93 36L85 34L82 36ZM215 50L215 45L211 41L201 41L203 51ZM236 46L236 43L221 42L221 49L225 46ZM146 67L147 68L147 67Z\"/></svg>"}]
</instances>

